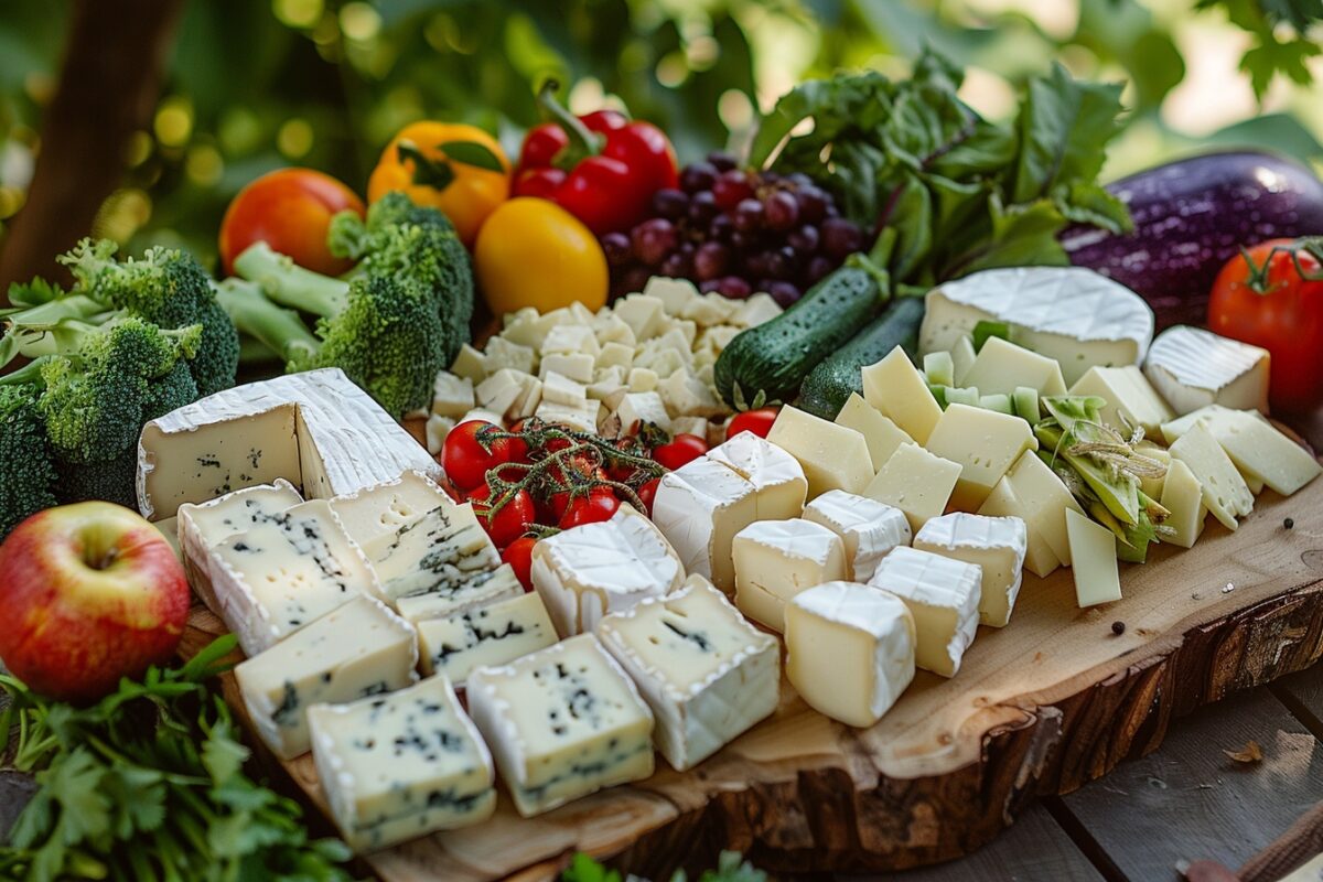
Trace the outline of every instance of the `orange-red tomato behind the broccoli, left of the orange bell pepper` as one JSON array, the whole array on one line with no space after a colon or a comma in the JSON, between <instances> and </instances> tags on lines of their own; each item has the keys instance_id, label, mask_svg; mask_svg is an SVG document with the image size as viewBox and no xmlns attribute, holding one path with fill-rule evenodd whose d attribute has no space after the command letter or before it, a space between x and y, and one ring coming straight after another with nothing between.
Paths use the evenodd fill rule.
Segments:
<instances>
[{"instance_id":1,"label":"orange-red tomato behind the broccoli, left of the orange bell pepper","mask_svg":"<svg viewBox=\"0 0 1323 882\"><path fill-rule=\"evenodd\" d=\"M282 168L251 181L225 209L221 263L234 274L234 258L254 242L266 242L314 272L340 275L353 261L327 249L331 218L349 209L363 216L363 200L329 175L311 168Z\"/></svg>"}]
</instances>

